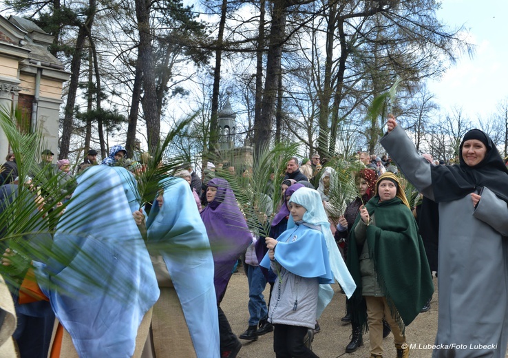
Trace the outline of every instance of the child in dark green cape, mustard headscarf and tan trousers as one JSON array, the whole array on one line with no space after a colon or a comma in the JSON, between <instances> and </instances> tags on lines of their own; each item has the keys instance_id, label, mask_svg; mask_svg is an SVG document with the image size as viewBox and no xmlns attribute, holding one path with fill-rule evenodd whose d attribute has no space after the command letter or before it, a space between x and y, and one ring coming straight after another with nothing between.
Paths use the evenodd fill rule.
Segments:
<instances>
[{"instance_id":1,"label":"child in dark green cape, mustard headscarf and tan trousers","mask_svg":"<svg viewBox=\"0 0 508 358\"><path fill-rule=\"evenodd\" d=\"M434 292L429 264L416 221L399 179L384 173L377 194L351 229L348 268L357 291L348 312L370 336L370 357L383 357L383 316L394 335L397 357L409 357L404 328ZM363 303L363 296L365 304Z\"/></svg>"}]
</instances>

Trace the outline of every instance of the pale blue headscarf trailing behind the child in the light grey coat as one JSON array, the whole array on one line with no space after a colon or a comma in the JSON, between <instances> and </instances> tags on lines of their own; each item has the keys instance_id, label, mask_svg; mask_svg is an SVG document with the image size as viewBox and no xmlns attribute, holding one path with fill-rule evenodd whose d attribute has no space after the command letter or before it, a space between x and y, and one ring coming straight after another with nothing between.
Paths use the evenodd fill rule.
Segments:
<instances>
[{"instance_id":1,"label":"pale blue headscarf trailing behind the child in the light grey coat","mask_svg":"<svg viewBox=\"0 0 508 358\"><path fill-rule=\"evenodd\" d=\"M346 263L342 259L342 255L335 243L332 231L330 230L330 222L324 211L321 196L315 189L301 188L295 191L291 196L289 202L295 202L301 205L307 211L304 213L304 224L310 224L313 227L319 227L323 233L328 253L330 254L330 268L332 269L333 277L339 282L341 288L346 293L347 297L351 297L357 285L352 279ZM293 217L289 215L288 229L295 227ZM330 285L319 285L319 299L317 306L317 317L323 313L324 308L330 303L333 297L333 289Z\"/></svg>"}]
</instances>

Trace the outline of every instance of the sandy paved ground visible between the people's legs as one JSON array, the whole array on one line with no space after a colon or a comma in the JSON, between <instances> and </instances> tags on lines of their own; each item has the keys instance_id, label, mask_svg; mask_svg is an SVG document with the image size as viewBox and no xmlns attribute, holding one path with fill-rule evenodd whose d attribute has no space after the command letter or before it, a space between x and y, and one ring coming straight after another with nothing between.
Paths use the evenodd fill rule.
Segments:
<instances>
[{"instance_id":1,"label":"sandy paved ground visible between the people's legs","mask_svg":"<svg viewBox=\"0 0 508 358\"><path fill-rule=\"evenodd\" d=\"M434 277L434 286L437 286ZM369 357L370 345L367 337L363 339L363 346L356 352L346 353L345 349L350 341L351 326L350 324L342 324L346 308L346 296L339 292L339 286L333 285L335 296L332 302L324 311L319 325L321 332L315 336L313 342L313 350L320 358L357 358ZM268 299L268 285L265 291L265 297ZM406 328L406 336L408 344L416 344L416 349L411 351L412 358L429 358L432 350L424 349L426 344L433 344L437 330L437 305L438 294L434 292L432 297L431 308L426 313L421 313L408 328ZM247 277L244 275L242 268L238 273L233 274L229 282L228 290L222 304L220 305L224 313L229 319L229 323L236 335L240 335L248 326L248 285ZM270 358L275 357L273 352L273 333L261 336L257 341L242 341L244 346L240 350L239 358ZM418 346L421 348L418 349ZM385 357L395 357L395 347L393 344L393 336L389 335L384 340Z\"/></svg>"}]
</instances>

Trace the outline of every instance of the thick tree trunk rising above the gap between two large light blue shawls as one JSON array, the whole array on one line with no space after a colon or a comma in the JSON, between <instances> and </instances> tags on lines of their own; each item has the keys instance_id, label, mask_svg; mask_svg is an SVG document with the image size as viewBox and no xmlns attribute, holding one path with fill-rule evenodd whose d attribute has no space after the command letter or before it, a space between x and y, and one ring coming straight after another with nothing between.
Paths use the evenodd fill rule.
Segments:
<instances>
[{"instance_id":1,"label":"thick tree trunk rising above the gap between two large light blue shawls","mask_svg":"<svg viewBox=\"0 0 508 358\"><path fill-rule=\"evenodd\" d=\"M135 3L139 32L138 56L143 72L144 95L141 105L147 121L148 150L153 154L160 143L160 121L157 116L156 78L151 48L149 1L135 0Z\"/></svg>"}]
</instances>

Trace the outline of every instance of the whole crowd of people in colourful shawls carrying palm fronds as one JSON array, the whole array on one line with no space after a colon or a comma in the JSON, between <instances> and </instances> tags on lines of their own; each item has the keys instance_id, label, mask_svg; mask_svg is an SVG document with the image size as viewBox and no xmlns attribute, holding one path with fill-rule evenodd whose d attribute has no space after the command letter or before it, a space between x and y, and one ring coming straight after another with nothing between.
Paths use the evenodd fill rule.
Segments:
<instances>
[{"instance_id":1,"label":"whole crowd of people in colourful shawls carrying palm fronds","mask_svg":"<svg viewBox=\"0 0 508 358\"><path fill-rule=\"evenodd\" d=\"M69 160L53 164L46 149L39 169L19 178L9 154L0 215L11 212L24 188L36 213L50 196L47 177L64 209L54 209L55 222L27 218L38 220L27 239L41 248L38 255L3 242L11 297L0 296L8 319L1 349L21 358L232 358L242 341L272 334L275 357L317 357L313 337L335 292L330 285L339 284L347 297L342 321L351 325L344 350L357 350L368 333L370 357L381 358L391 333L397 357L407 358L405 328L429 309L436 271L432 356L505 357L508 169L498 150L473 129L458 163L443 165L419 154L393 116L381 145L384 156L358 153L349 196L337 198L346 190L343 168L316 153L290 158L250 203L254 211L239 205L230 182L237 170L226 162L208 162L202 178L190 164L175 168L142 204L136 176L144 163L127 159L120 145L100 165L98 153L88 151L75 176ZM406 197L407 181L421 194L418 202ZM236 335L220 305L239 264L248 321Z\"/></svg>"}]
</instances>

